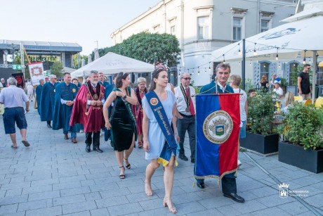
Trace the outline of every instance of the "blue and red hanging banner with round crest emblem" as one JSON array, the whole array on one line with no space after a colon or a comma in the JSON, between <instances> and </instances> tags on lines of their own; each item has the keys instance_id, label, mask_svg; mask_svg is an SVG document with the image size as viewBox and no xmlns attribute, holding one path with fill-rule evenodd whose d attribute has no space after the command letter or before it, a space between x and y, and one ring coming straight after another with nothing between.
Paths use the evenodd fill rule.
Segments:
<instances>
[{"instance_id":1,"label":"blue and red hanging banner with round crest emblem","mask_svg":"<svg viewBox=\"0 0 323 216\"><path fill-rule=\"evenodd\" d=\"M237 170L239 94L198 94L195 178L222 178Z\"/></svg>"}]
</instances>

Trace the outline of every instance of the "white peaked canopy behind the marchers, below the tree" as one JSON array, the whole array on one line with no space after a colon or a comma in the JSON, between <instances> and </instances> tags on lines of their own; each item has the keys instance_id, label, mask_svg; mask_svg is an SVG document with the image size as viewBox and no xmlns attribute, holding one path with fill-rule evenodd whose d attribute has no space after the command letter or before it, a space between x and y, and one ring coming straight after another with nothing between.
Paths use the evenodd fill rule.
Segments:
<instances>
[{"instance_id":1,"label":"white peaked canopy behind the marchers, below the tree","mask_svg":"<svg viewBox=\"0 0 323 216\"><path fill-rule=\"evenodd\" d=\"M75 70L71 75L72 77L83 77L90 75L91 70L98 70L98 72L103 72L105 75L118 72L152 72L154 65L110 52Z\"/></svg>"}]
</instances>

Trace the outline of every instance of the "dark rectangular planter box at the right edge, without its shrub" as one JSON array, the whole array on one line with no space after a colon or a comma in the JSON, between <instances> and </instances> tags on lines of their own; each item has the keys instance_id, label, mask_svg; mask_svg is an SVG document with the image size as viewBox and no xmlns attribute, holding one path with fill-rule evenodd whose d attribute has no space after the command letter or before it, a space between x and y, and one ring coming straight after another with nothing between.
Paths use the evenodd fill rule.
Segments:
<instances>
[{"instance_id":1,"label":"dark rectangular planter box at the right edge, without its shrub","mask_svg":"<svg viewBox=\"0 0 323 216\"><path fill-rule=\"evenodd\" d=\"M303 146L279 141L278 160L310 172L323 172L323 149L304 150Z\"/></svg>"}]
</instances>

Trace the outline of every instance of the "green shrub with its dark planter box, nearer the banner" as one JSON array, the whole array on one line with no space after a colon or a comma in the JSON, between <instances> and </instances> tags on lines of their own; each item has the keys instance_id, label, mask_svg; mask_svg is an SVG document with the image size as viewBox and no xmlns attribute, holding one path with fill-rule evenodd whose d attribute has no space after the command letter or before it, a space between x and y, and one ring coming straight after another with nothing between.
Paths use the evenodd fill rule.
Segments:
<instances>
[{"instance_id":1,"label":"green shrub with its dark planter box, nearer the banner","mask_svg":"<svg viewBox=\"0 0 323 216\"><path fill-rule=\"evenodd\" d=\"M278 151L279 135L272 131L273 94L257 91L249 100L246 139L241 139L240 146L265 155Z\"/></svg>"}]
</instances>

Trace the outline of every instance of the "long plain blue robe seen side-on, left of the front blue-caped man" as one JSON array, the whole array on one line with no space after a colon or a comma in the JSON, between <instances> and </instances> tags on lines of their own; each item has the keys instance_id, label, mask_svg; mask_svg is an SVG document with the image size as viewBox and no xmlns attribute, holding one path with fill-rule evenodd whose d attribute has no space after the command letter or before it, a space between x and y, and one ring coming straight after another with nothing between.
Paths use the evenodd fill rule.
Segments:
<instances>
[{"instance_id":1,"label":"long plain blue robe seen side-on, left of the front blue-caped man","mask_svg":"<svg viewBox=\"0 0 323 216\"><path fill-rule=\"evenodd\" d=\"M43 90L41 91L39 108L42 122L53 120L56 85L56 82L54 84L46 82L43 86Z\"/></svg>"}]
</instances>

